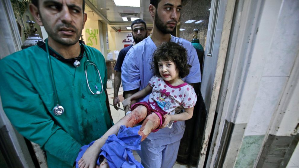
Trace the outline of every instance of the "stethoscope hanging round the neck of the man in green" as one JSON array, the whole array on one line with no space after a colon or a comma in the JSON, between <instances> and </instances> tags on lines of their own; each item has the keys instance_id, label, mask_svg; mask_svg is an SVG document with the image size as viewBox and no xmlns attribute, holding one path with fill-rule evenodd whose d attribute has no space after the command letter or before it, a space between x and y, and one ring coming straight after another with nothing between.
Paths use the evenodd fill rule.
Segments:
<instances>
[{"instance_id":1,"label":"stethoscope hanging round the neck of the man in green","mask_svg":"<svg viewBox=\"0 0 299 168\"><path fill-rule=\"evenodd\" d=\"M53 85L53 89L54 89L54 95L55 95L55 99L56 99L56 106L53 107L52 111L53 113L56 115L56 116L59 116L61 115L65 109L59 105L59 101L58 101L58 94L57 94L57 89L56 89L56 85L55 85L55 80L54 80L54 76L53 76L53 68L52 68L52 63L51 63L51 58L50 58L50 54L49 54L49 45L48 45L48 39L45 40L46 41L46 52L48 54L48 60L49 60L49 67L50 67L50 73L51 73L51 77L52 77L52 85ZM84 48L84 44L83 45L83 48ZM93 62L93 61L90 61L88 56L87 56L87 53L86 53L86 57L87 57L87 61L84 62L84 71L85 71L85 76L86 76L86 82L87 82L87 86L88 86L88 89L90 90L90 92L93 94L93 95L99 95L103 92L103 82L102 82L102 78L101 78L101 75L100 75L100 72L99 72L99 69L98 67L96 66L96 64ZM76 60L74 62L74 66L77 68L77 67L80 67L80 61ZM89 86L89 82L88 82L88 77L87 77L87 67L89 65L92 65L96 68L96 70L98 71L98 74L99 74L99 77L100 77L100 81L101 81L101 91L96 91L95 93L90 89L90 86ZM98 89L98 87L95 85L96 89Z\"/></svg>"}]
</instances>

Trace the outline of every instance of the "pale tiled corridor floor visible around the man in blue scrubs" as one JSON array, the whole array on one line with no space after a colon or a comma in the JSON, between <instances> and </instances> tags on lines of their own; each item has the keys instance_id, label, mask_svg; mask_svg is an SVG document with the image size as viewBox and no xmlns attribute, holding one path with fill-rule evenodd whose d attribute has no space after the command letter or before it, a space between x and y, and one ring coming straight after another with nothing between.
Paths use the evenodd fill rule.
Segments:
<instances>
[{"instance_id":1,"label":"pale tiled corridor floor visible around the man in blue scrubs","mask_svg":"<svg viewBox=\"0 0 299 168\"><path fill-rule=\"evenodd\" d=\"M122 87L119 88L118 95L122 95L123 89ZM116 123L118 120L120 120L122 117L124 117L124 109L122 107L122 104L120 103L120 109L116 110L113 106L113 88L107 89L108 97L109 97L109 104L110 104L110 110L111 110L111 115L113 118L113 122ZM133 151L135 159L140 162L140 157L136 153L136 151ZM187 168L185 165L180 165L178 163L175 163L173 168Z\"/></svg>"}]
</instances>

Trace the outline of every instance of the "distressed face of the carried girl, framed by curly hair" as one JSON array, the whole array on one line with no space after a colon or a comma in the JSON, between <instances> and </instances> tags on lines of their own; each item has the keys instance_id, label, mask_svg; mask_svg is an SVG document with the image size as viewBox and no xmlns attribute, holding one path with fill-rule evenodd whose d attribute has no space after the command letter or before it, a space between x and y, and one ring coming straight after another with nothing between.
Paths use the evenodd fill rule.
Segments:
<instances>
[{"instance_id":1,"label":"distressed face of the carried girl, framed by curly hair","mask_svg":"<svg viewBox=\"0 0 299 168\"><path fill-rule=\"evenodd\" d=\"M172 61L159 61L158 62L159 73L165 81L170 84L176 82L179 79L179 72Z\"/></svg>"}]
</instances>

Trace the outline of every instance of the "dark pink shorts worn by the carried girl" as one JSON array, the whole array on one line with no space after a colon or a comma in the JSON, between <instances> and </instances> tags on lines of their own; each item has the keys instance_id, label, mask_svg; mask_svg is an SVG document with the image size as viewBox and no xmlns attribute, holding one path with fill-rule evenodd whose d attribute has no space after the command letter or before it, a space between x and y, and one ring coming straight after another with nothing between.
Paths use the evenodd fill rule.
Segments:
<instances>
[{"instance_id":1,"label":"dark pink shorts worn by the carried girl","mask_svg":"<svg viewBox=\"0 0 299 168\"><path fill-rule=\"evenodd\" d=\"M162 126L162 124L164 123L164 115L167 114L165 111L163 111L158 105L155 106L156 109L153 109L151 106L150 106L150 102L146 102L146 101L142 101L142 102L138 102L138 103L135 103L131 106L131 111L133 111L137 106L144 106L146 107L147 109L147 115L150 115L152 113L155 113L157 114L157 116L159 117L160 119L160 125L157 129L153 130L152 132L157 132L159 131L159 128Z\"/></svg>"}]
</instances>

